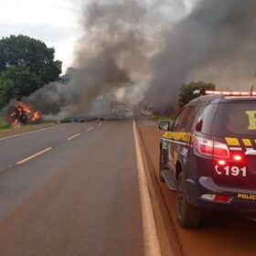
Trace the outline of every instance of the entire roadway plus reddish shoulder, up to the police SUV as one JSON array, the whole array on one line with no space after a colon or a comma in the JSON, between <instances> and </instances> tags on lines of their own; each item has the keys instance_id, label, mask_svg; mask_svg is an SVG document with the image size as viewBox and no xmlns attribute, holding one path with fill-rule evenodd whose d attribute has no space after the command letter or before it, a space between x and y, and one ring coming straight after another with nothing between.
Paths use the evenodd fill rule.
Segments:
<instances>
[{"instance_id":1,"label":"entire roadway plus reddish shoulder, up to the police SUV","mask_svg":"<svg viewBox=\"0 0 256 256\"><path fill-rule=\"evenodd\" d=\"M133 121L0 138L0 256L256 255L255 222L221 213L178 226L156 173L161 133L139 127L140 141Z\"/></svg>"}]
</instances>

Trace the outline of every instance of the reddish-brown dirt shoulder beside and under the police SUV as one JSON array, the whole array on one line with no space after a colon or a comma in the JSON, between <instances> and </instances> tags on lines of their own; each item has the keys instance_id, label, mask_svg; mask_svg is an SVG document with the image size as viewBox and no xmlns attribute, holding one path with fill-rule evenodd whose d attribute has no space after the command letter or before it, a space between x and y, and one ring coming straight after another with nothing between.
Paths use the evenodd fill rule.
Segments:
<instances>
[{"instance_id":1,"label":"reddish-brown dirt shoulder beside and under the police SUV","mask_svg":"<svg viewBox=\"0 0 256 256\"><path fill-rule=\"evenodd\" d=\"M144 152L151 165L151 173L155 187L160 194L159 201L164 201L165 228L168 235L175 235L170 239L176 254L185 256L255 256L255 228L256 222L241 219L228 213L214 213L208 216L206 225L202 229L182 229L176 220L176 195L166 185L159 181L159 141L163 132L157 129L153 122L139 122L140 133L144 142Z\"/></svg>"}]
</instances>

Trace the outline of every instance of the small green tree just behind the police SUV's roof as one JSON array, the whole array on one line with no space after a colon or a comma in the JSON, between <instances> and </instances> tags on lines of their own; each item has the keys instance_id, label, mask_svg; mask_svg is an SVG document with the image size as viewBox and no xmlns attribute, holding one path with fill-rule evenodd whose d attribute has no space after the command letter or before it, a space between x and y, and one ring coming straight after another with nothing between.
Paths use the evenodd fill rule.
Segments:
<instances>
[{"instance_id":1,"label":"small green tree just behind the police SUV's roof","mask_svg":"<svg viewBox=\"0 0 256 256\"><path fill-rule=\"evenodd\" d=\"M192 81L188 84L182 84L178 95L179 107L183 107L187 102L197 98L198 95L195 95L193 92L199 89L215 91L216 85L214 83L204 81Z\"/></svg>"}]
</instances>

